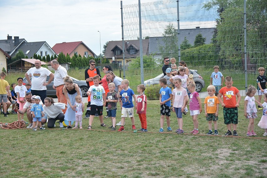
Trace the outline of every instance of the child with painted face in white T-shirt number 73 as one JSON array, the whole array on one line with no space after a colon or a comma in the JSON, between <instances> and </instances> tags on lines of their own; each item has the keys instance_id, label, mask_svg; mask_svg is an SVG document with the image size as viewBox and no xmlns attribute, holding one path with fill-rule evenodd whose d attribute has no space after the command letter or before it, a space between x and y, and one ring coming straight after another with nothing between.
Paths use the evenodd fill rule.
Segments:
<instances>
[{"instance_id":1,"label":"child with painted face in white T-shirt number 73","mask_svg":"<svg viewBox=\"0 0 267 178\"><path fill-rule=\"evenodd\" d=\"M19 104L19 110L23 110L23 106L24 106L24 104L26 103L26 100L25 100L25 95L26 95L26 93L27 93L27 88L24 86L24 85L22 85L22 83L23 83L23 78L21 78L21 77L18 77L18 79L17 79L17 81L18 81L18 85L15 87L15 92L17 93L17 98L18 98L18 104ZM23 120L23 114L19 114L18 113L18 120Z\"/></svg>"}]
</instances>

